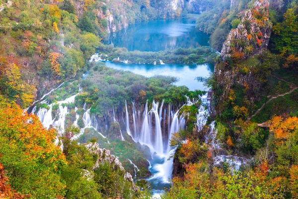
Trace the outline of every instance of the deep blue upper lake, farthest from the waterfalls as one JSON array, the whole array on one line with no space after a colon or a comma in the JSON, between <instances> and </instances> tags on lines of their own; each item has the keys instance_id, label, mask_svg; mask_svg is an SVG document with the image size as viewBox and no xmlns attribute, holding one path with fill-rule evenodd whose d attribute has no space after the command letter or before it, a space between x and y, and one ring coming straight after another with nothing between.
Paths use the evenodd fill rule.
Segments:
<instances>
[{"instance_id":1,"label":"deep blue upper lake, farthest from the waterfalls","mask_svg":"<svg viewBox=\"0 0 298 199\"><path fill-rule=\"evenodd\" d=\"M177 47L208 46L209 36L199 31L195 18L152 20L130 25L103 41L129 51L161 51Z\"/></svg>"}]
</instances>

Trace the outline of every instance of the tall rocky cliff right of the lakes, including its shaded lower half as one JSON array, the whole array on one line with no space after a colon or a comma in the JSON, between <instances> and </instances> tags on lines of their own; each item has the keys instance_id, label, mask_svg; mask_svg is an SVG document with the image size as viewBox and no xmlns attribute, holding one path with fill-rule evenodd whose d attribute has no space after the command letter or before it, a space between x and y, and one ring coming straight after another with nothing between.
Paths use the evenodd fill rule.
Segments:
<instances>
[{"instance_id":1,"label":"tall rocky cliff right of the lakes, including its shaded lower half","mask_svg":"<svg viewBox=\"0 0 298 199\"><path fill-rule=\"evenodd\" d=\"M214 72L217 114L221 115L228 103L235 105L236 90L242 95L242 105L248 109L260 97L267 73L262 71L265 58L260 56L267 49L272 31L268 15L269 0L257 0L252 8L244 11L237 28L228 34L221 51L223 60L216 64Z\"/></svg>"}]
</instances>

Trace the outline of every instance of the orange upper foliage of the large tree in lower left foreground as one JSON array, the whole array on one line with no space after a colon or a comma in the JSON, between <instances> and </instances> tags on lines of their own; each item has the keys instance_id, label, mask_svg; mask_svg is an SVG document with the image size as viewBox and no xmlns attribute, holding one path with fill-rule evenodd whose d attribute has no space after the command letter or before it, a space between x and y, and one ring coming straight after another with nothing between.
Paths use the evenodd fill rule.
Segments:
<instances>
[{"instance_id":1,"label":"orange upper foliage of the large tree in lower left foreground","mask_svg":"<svg viewBox=\"0 0 298 199\"><path fill-rule=\"evenodd\" d=\"M57 171L66 164L65 156L59 146L54 144L56 130L47 130L34 114L24 112L18 105L0 109L0 136L13 137L11 145L18 144L26 152L29 161L40 161L48 169Z\"/></svg>"}]
</instances>

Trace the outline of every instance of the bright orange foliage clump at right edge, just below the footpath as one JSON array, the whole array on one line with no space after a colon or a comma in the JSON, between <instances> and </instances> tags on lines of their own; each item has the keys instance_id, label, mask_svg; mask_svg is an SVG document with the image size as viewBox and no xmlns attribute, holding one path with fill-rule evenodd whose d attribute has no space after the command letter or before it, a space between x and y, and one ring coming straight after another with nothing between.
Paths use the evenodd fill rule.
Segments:
<instances>
[{"instance_id":1,"label":"bright orange foliage clump at right edge, just below the footpath","mask_svg":"<svg viewBox=\"0 0 298 199\"><path fill-rule=\"evenodd\" d=\"M288 139L298 130L298 117L289 117L284 120L281 116L275 116L271 119L270 130L274 133L276 139Z\"/></svg>"}]
</instances>

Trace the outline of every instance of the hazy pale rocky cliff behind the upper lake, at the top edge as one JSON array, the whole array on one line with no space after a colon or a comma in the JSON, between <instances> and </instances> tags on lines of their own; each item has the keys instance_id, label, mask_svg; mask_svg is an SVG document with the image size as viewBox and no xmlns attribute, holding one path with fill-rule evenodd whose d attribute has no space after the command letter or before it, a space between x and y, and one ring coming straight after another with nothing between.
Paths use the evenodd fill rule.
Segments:
<instances>
[{"instance_id":1,"label":"hazy pale rocky cliff behind the upper lake, at the top edge","mask_svg":"<svg viewBox=\"0 0 298 199\"><path fill-rule=\"evenodd\" d=\"M149 19L175 18L184 9L184 0L93 0L90 5L73 0L73 4L79 17L90 11L95 13L96 24L107 33Z\"/></svg>"}]
</instances>

